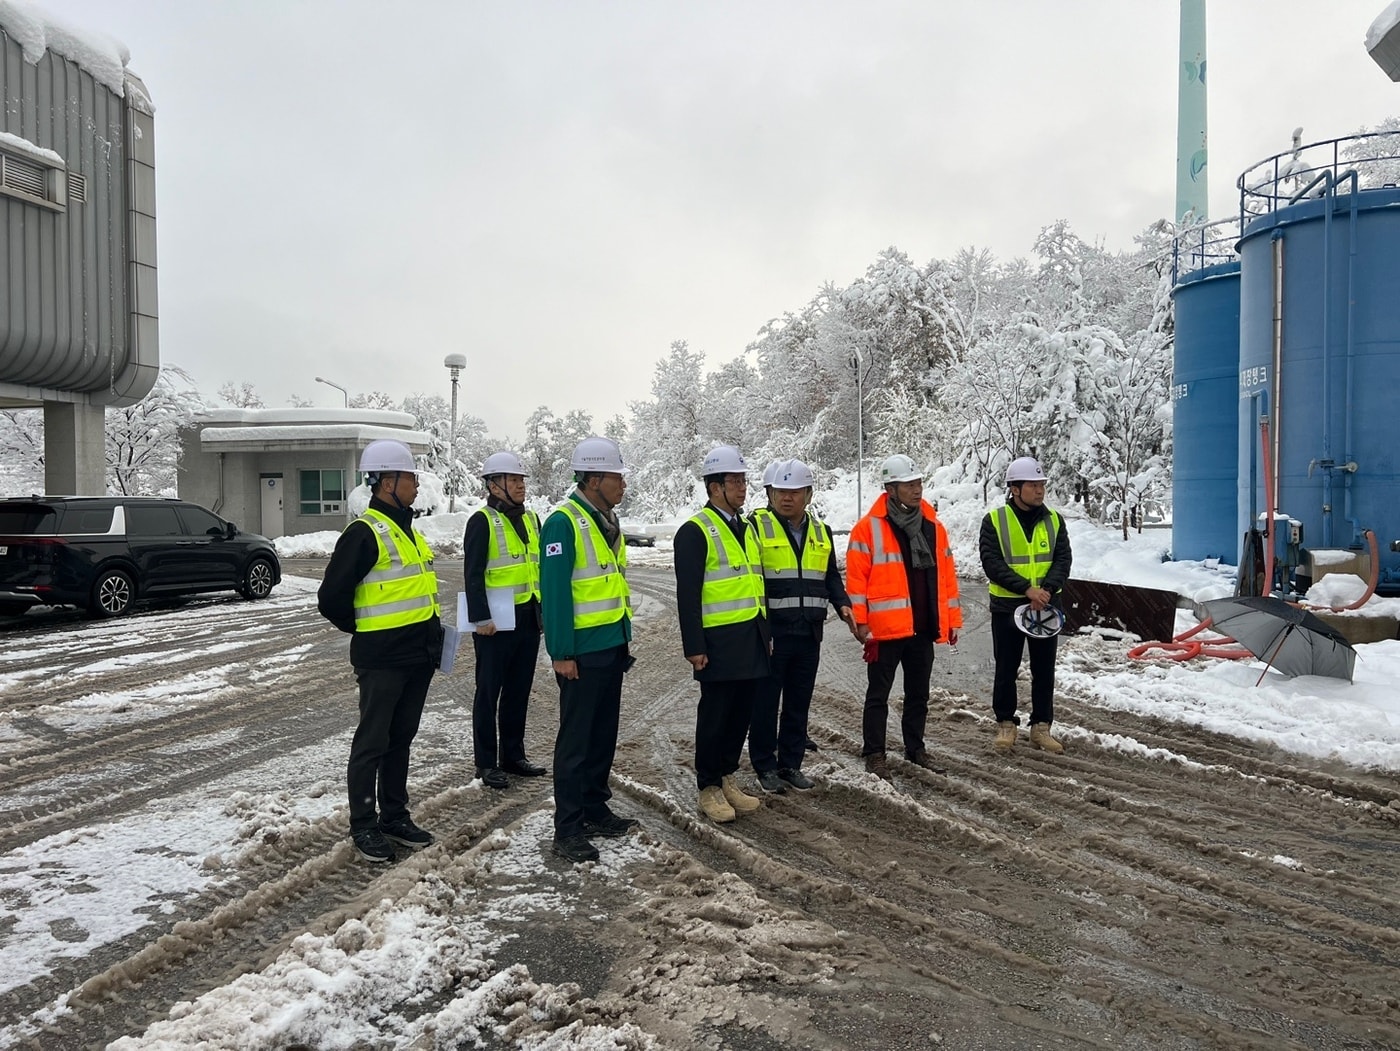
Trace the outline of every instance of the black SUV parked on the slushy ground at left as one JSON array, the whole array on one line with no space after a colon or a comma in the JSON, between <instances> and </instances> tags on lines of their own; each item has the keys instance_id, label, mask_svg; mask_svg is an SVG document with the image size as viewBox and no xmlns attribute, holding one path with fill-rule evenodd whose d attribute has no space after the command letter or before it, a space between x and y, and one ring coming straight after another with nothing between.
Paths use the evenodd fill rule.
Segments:
<instances>
[{"instance_id":1,"label":"black SUV parked on the slushy ground at left","mask_svg":"<svg viewBox=\"0 0 1400 1051\"><path fill-rule=\"evenodd\" d=\"M185 500L0 500L0 617L31 606L119 617L139 599L200 591L265 599L279 581L272 540Z\"/></svg>"}]
</instances>

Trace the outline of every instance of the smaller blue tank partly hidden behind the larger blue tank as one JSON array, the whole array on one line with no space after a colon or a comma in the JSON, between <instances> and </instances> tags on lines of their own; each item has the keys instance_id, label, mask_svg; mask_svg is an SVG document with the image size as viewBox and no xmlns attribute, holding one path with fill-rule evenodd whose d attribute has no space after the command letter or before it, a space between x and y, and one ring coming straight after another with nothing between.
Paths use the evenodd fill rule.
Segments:
<instances>
[{"instance_id":1,"label":"smaller blue tank partly hidden behind the larger blue tank","mask_svg":"<svg viewBox=\"0 0 1400 1051\"><path fill-rule=\"evenodd\" d=\"M1172 361L1172 557L1239 558L1239 263L1186 274Z\"/></svg>"}]
</instances>

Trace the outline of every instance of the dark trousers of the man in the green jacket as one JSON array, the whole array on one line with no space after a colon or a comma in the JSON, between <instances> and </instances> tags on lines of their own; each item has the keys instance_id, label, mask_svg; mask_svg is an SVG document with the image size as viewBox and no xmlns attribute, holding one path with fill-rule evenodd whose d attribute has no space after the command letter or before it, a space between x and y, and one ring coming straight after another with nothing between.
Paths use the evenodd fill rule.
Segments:
<instances>
[{"instance_id":1,"label":"dark trousers of the man in the green jacket","mask_svg":"<svg viewBox=\"0 0 1400 1051\"><path fill-rule=\"evenodd\" d=\"M582 835L584 821L605 820L612 810L613 754L622 717L622 676L627 647L578 656L578 677L559 683L559 736L554 738L554 838Z\"/></svg>"}]
</instances>

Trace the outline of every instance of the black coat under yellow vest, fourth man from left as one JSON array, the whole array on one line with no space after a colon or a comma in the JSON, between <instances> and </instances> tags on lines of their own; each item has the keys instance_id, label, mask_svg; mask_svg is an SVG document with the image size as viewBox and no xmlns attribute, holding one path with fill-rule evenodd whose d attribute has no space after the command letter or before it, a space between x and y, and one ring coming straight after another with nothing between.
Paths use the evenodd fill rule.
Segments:
<instances>
[{"instance_id":1,"label":"black coat under yellow vest, fourth man from left","mask_svg":"<svg viewBox=\"0 0 1400 1051\"><path fill-rule=\"evenodd\" d=\"M724 518L724 514L707 504ZM752 526L742 518L729 523L743 544L743 535ZM706 628L700 621L700 589L704 586L704 563L710 551L704 530L687 521L676 530L676 610L680 614L680 647L686 656L704 654L710 662L694 677L700 682L728 682L732 679L763 679L769 673L771 634L767 617L755 617L742 624L721 624Z\"/></svg>"}]
</instances>

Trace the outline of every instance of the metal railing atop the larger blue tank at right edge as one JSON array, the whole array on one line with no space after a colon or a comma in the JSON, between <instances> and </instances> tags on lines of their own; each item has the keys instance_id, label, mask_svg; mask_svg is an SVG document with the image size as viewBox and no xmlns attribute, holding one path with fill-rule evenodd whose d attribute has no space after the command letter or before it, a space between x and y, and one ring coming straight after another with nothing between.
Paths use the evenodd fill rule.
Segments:
<instances>
[{"instance_id":1,"label":"metal railing atop the larger blue tank at right edge","mask_svg":"<svg viewBox=\"0 0 1400 1051\"><path fill-rule=\"evenodd\" d=\"M1235 181L1240 228L1259 216L1322 197L1350 171L1357 172L1357 189L1400 185L1400 132L1368 132L1306 146L1295 141L1292 150L1246 168Z\"/></svg>"}]
</instances>

